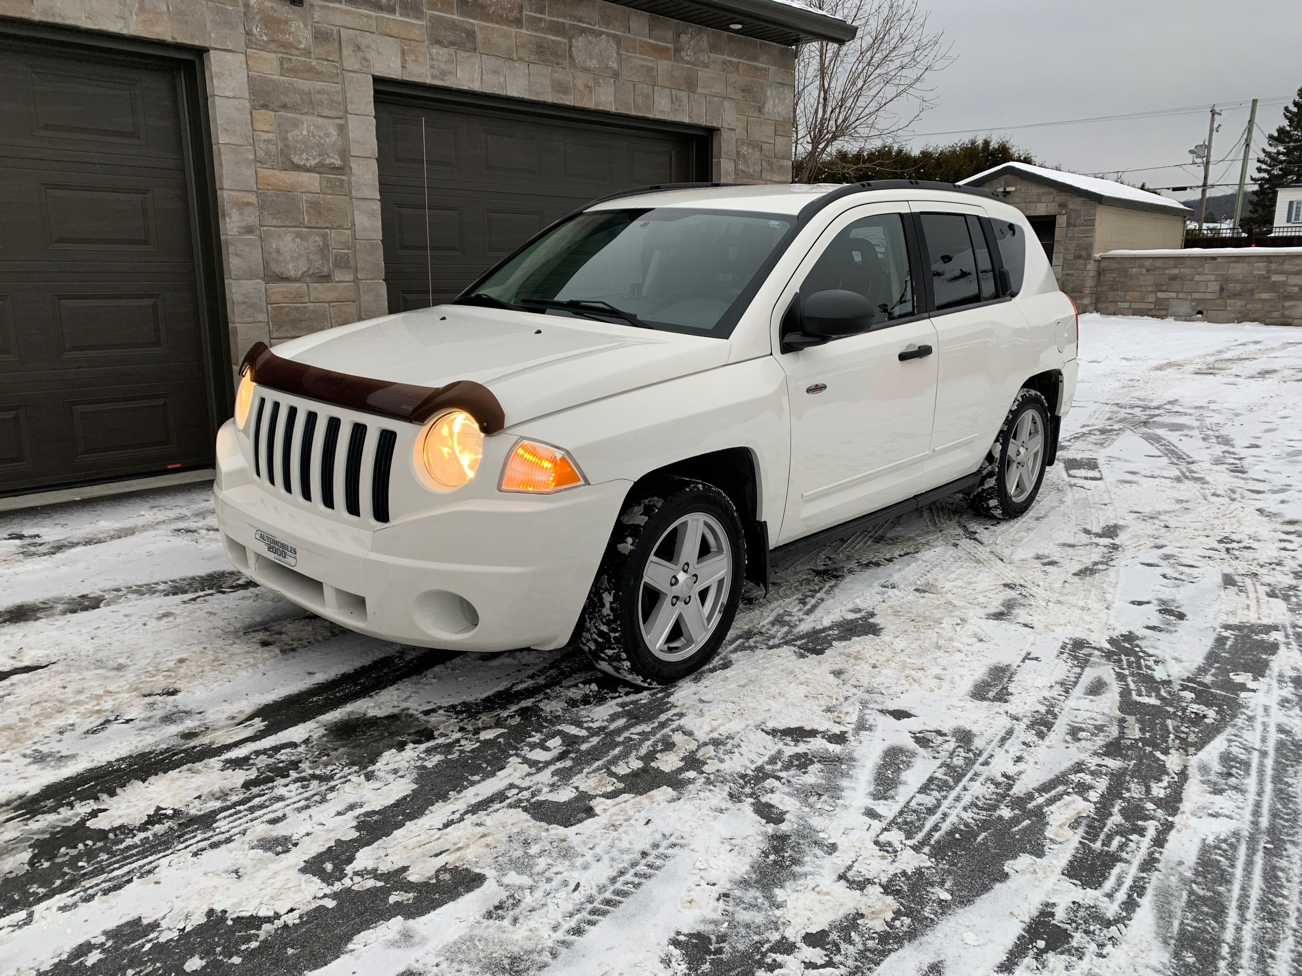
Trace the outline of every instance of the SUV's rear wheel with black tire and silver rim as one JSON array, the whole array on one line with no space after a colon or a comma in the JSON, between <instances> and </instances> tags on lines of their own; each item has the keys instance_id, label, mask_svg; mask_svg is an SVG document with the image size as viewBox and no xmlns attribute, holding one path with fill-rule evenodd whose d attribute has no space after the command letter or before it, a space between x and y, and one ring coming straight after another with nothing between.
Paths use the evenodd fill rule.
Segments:
<instances>
[{"instance_id":1,"label":"SUV's rear wheel with black tire and silver rim","mask_svg":"<svg viewBox=\"0 0 1302 976\"><path fill-rule=\"evenodd\" d=\"M1023 432L1038 431L1039 448L1027 450ZM1034 441L1031 441L1034 444ZM1040 493L1049 448L1049 405L1034 389L1021 389L999 428L999 436L982 462L980 480L970 504L975 511L997 519L1026 513ZM1013 481L1010 487L1009 481ZM1013 491L1016 488L1016 491Z\"/></svg>"}]
</instances>

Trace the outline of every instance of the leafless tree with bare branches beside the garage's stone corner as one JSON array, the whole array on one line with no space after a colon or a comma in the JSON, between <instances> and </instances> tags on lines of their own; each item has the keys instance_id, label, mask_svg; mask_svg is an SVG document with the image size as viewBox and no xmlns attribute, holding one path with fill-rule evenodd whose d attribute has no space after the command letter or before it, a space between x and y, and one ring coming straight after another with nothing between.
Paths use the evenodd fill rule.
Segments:
<instances>
[{"instance_id":1,"label":"leafless tree with bare branches beside the garage's stone corner","mask_svg":"<svg viewBox=\"0 0 1302 976\"><path fill-rule=\"evenodd\" d=\"M931 105L927 75L949 48L918 0L811 0L859 29L845 44L802 44L796 57L794 155L811 182L836 148L891 142Z\"/></svg>"}]
</instances>

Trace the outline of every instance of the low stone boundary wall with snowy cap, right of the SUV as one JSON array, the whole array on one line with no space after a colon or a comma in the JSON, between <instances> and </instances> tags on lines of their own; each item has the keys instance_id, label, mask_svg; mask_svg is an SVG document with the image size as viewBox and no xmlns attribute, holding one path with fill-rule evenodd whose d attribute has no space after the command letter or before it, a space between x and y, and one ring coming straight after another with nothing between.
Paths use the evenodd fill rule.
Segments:
<instances>
[{"instance_id":1,"label":"low stone boundary wall with snowy cap, right of the SUV","mask_svg":"<svg viewBox=\"0 0 1302 976\"><path fill-rule=\"evenodd\" d=\"M1302 325L1302 250L1101 254L1095 311Z\"/></svg>"}]
</instances>

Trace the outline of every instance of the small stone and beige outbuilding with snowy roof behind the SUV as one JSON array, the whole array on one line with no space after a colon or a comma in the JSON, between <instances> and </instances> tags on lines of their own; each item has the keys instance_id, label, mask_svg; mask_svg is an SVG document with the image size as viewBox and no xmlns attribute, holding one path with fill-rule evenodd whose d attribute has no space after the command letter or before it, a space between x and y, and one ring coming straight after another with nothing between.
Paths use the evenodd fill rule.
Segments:
<instances>
[{"instance_id":1,"label":"small stone and beige outbuilding with snowy roof behind the SUV","mask_svg":"<svg viewBox=\"0 0 1302 976\"><path fill-rule=\"evenodd\" d=\"M1182 247L1191 211L1176 200L1113 180L1005 163L961 181L1000 193L1031 221L1081 311L1094 308L1095 255L1112 250Z\"/></svg>"}]
</instances>

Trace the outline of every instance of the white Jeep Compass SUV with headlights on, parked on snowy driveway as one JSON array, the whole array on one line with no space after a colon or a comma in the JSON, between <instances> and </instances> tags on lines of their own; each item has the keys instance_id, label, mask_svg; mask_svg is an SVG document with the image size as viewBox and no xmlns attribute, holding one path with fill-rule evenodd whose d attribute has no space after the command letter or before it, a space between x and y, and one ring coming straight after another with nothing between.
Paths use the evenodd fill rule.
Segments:
<instances>
[{"instance_id":1,"label":"white Jeep Compass SUV with headlights on, parked on snowy driveway","mask_svg":"<svg viewBox=\"0 0 1302 976\"><path fill-rule=\"evenodd\" d=\"M387 640L700 668L743 579L953 493L1030 508L1077 375L1026 219L948 183L650 187L456 301L250 350L234 565Z\"/></svg>"}]
</instances>

